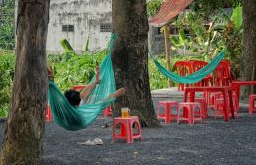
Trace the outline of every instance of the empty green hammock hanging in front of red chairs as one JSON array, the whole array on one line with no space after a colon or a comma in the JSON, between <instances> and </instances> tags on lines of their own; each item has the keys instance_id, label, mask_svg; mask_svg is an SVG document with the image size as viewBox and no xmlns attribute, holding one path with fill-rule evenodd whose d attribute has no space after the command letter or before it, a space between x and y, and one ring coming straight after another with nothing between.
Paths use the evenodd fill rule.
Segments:
<instances>
[{"instance_id":1,"label":"empty green hammock hanging in front of red chairs","mask_svg":"<svg viewBox=\"0 0 256 165\"><path fill-rule=\"evenodd\" d=\"M160 65L160 63L156 59L154 59L154 63L159 69L160 73L162 73L164 76L168 77L169 79L172 79L177 83L191 84L191 83L197 83L201 81L211 72L213 72L215 68L219 65L219 63L222 61L222 59L224 58L224 55L225 55L225 51L222 51L205 67L185 77L179 76L178 74L168 71L166 68Z\"/></svg>"}]
</instances>

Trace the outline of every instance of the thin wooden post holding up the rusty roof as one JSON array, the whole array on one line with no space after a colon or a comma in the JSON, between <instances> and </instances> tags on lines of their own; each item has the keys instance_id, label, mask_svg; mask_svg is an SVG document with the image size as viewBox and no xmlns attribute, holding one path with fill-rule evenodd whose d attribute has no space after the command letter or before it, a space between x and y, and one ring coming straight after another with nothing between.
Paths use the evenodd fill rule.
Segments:
<instances>
[{"instance_id":1,"label":"thin wooden post holding up the rusty roof","mask_svg":"<svg viewBox=\"0 0 256 165\"><path fill-rule=\"evenodd\" d=\"M166 53L166 66L170 71L170 42L169 42L169 26L164 26L164 39L165 39L165 53ZM172 87L172 81L169 79L169 87Z\"/></svg>"}]
</instances>

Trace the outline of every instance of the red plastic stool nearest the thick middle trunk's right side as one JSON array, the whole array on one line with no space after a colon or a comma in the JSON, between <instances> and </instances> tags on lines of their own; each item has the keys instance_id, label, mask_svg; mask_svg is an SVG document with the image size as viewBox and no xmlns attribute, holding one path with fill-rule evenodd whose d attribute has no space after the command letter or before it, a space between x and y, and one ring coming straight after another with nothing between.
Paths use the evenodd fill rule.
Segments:
<instances>
[{"instance_id":1,"label":"red plastic stool nearest the thick middle trunk's right side","mask_svg":"<svg viewBox=\"0 0 256 165\"><path fill-rule=\"evenodd\" d=\"M165 108L164 113L160 113L160 107L163 106ZM177 101L159 101L158 103L158 119L164 119L165 123L170 123L172 119L177 119L177 115L171 114L171 108L177 107L178 108L178 102Z\"/></svg>"}]
</instances>

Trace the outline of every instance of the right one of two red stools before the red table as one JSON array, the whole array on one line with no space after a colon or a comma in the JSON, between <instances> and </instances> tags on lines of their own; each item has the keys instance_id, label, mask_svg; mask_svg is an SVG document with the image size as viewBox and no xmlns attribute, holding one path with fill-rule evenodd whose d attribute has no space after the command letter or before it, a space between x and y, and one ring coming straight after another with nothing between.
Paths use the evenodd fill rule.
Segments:
<instances>
[{"instance_id":1,"label":"right one of two red stools before the red table","mask_svg":"<svg viewBox=\"0 0 256 165\"><path fill-rule=\"evenodd\" d=\"M180 117L180 111L183 110L183 117ZM199 116L195 117L195 109L199 108ZM177 123L179 123L180 120L187 121L190 125L194 124L195 121L201 121L202 123L202 110L201 110L201 104L199 102L180 102L179 108L178 108L178 118Z\"/></svg>"}]
</instances>

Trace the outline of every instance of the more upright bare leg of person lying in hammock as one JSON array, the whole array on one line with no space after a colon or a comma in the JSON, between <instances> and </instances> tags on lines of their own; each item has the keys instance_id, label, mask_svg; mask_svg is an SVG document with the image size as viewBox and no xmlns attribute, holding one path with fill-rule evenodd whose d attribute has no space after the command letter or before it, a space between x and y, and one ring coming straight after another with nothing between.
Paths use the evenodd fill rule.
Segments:
<instances>
[{"instance_id":1,"label":"more upright bare leg of person lying in hammock","mask_svg":"<svg viewBox=\"0 0 256 165\"><path fill-rule=\"evenodd\" d=\"M83 100L83 102L87 102L89 95L91 94L92 90L96 87L96 85L98 83L100 83L100 68L97 66L96 67L96 79L95 79L94 83L87 86L80 93L80 98Z\"/></svg>"}]
</instances>

